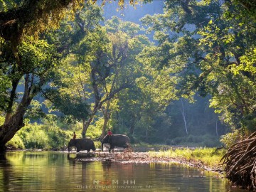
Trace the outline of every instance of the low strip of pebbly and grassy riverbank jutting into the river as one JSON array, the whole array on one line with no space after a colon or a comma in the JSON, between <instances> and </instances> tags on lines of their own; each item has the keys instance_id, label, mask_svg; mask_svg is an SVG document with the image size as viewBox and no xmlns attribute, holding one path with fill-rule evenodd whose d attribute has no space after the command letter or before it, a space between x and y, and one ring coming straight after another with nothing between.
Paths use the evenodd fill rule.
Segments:
<instances>
[{"instance_id":1,"label":"low strip of pebbly and grassy riverbank jutting into the river","mask_svg":"<svg viewBox=\"0 0 256 192\"><path fill-rule=\"evenodd\" d=\"M122 164L149 164L149 163L178 163L197 167L207 171L223 174L223 165L220 162L225 151L215 148L182 148L167 151L115 151L114 153L96 151L95 153L75 154L76 161L112 161Z\"/></svg>"}]
</instances>

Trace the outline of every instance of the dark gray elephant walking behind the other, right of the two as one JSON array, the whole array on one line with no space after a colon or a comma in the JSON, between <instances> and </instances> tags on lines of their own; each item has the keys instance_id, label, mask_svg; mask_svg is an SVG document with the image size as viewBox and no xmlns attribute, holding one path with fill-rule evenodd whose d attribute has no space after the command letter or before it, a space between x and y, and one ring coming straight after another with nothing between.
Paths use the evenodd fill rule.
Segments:
<instances>
[{"instance_id":1,"label":"dark gray elephant walking behind the other, right of the two","mask_svg":"<svg viewBox=\"0 0 256 192\"><path fill-rule=\"evenodd\" d=\"M130 144L130 139L124 134L112 134L111 136L106 135L102 139L102 151L103 151L103 144L110 144L110 149L114 149L114 146L119 146L122 148L128 148Z\"/></svg>"}]
</instances>

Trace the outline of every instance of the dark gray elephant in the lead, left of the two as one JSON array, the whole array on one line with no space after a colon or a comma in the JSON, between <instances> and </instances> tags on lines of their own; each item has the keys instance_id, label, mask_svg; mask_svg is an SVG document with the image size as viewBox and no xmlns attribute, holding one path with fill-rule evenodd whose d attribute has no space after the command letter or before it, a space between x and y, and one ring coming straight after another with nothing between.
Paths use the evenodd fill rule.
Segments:
<instances>
[{"instance_id":1,"label":"dark gray elephant in the lead, left of the two","mask_svg":"<svg viewBox=\"0 0 256 192\"><path fill-rule=\"evenodd\" d=\"M89 153L90 149L92 149L93 151L96 150L95 144L92 139L70 139L70 142L68 142L68 151L70 151L71 146L75 146L77 152L81 150L87 150L87 152Z\"/></svg>"}]
</instances>

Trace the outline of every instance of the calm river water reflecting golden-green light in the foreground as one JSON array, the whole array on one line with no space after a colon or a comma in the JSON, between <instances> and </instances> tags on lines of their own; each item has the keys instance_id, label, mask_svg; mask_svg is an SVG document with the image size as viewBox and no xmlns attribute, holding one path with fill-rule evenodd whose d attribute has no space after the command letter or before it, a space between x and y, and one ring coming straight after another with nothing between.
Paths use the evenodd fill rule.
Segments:
<instances>
[{"instance_id":1,"label":"calm river water reflecting golden-green light in the foreground","mask_svg":"<svg viewBox=\"0 0 256 192\"><path fill-rule=\"evenodd\" d=\"M242 191L225 178L182 164L77 161L58 151L10 151L0 159L0 191Z\"/></svg>"}]
</instances>

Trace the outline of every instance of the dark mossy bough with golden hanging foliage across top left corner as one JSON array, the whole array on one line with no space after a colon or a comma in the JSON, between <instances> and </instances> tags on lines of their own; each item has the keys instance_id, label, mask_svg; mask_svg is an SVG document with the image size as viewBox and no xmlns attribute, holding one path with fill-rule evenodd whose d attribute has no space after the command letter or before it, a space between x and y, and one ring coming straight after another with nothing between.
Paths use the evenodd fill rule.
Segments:
<instances>
[{"instance_id":1,"label":"dark mossy bough with golden hanging foliage across top left corner","mask_svg":"<svg viewBox=\"0 0 256 192\"><path fill-rule=\"evenodd\" d=\"M85 2L95 4L96 1ZM1 1L0 36L6 41L11 41L13 48L16 48L22 37L38 35L48 28L58 28L66 11L72 11L74 15L85 2L81 0ZM130 4L135 2L130 1ZM124 1L120 0L119 6L123 5Z\"/></svg>"}]
</instances>

